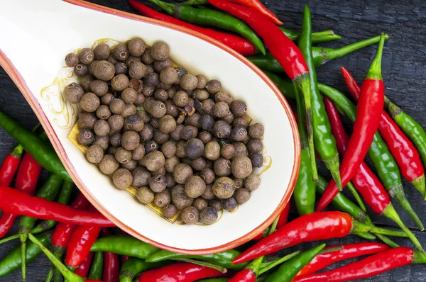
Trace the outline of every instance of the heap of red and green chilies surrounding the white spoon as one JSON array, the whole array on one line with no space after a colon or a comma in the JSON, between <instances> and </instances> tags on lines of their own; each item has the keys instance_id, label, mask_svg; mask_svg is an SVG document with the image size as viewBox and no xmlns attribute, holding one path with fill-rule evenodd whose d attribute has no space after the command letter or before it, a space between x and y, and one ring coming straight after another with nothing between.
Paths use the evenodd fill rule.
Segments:
<instances>
[{"instance_id":1,"label":"heap of red and green chilies surrounding the white spoon","mask_svg":"<svg viewBox=\"0 0 426 282\"><path fill-rule=\"evenodd\" d=\"M382 33L330 49L313 45L339 40L340 36L332 30L314 32L307 6L302 30L296 32L285 29L258 0L148 1L168 15L138 0L129 0L129 4L143 16L195 30L247 56L286 98L295 100L301 162L292 201L299 217L288 222L289 202L273 225L242 250L187 255L158 249L118 230L78 193L47 136L37 132L38 127L33 132L26 130L0 111L0 127L19 144L0 165L0 238L21 216L18 234L0 239L0 244L12 239L21 242L0 260L0 277L21 269L25 278L26 265L42 253L53 264L46 281L65 278L70 282L349 281L407 264L426 264L422 245L390 201L394 198L424 230L405 197L400 175L426 198L422 166L422 161L426 162L426 132L384 96L381 60L388 35ZM375 43L376 58L361 86L342 67L349 94L357 105L337 89L317 81L321 64ZM354 123L351 135L341 115ZM364 162L366 154L377 176ZM329 170L330 181L318 174L316 156ZM38 187L43 168L50 175ZM344 186L349 187L356 203L341 192ZM317 210L332 203L337 211L315 212L316 193L321 195ZM391 218L402 231L373 225L364 202L373 212ZM288 251L303 242L349 235L368 242L329 247L317 244L302 252ZM400 247L388 236L408 237L417 249ZM376 239L384 244L374 242ZM50 245L53 252L48 250ZM277 256L275 252L281 249L284 251L278 254L282 256ZM359 256L366 257L318 273L338 261Z\"/></svg>"}]
</instances>

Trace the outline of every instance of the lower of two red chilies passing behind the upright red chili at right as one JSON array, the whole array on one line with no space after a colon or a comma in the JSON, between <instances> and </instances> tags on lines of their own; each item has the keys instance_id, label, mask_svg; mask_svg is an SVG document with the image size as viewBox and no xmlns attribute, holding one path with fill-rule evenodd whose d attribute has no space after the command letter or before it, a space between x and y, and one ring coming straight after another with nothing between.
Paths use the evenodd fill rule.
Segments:
<instances>
[{"instance_id":1,"label":"lower of two red chilies passing behind the upright red chili at right","mask_svg":"<svg viewBox=\"0 0 426 282\"><path fill-rule=\"evenodd\" d=\"M334 129L333 134L339 143L339 153L344 155L349 146L349 136L344 130L342 120L340 120L339 113L337 113L337 108L334 106L333 102L330 101L329 98L324 97L324 103L326 103L327 114L329 115L330 123ZM391 220L407 233L413 243L419 247L419 249L422 249L420 242L418 242L413 232L404 225L398 213L396 213L385 188L383 188L376 175L373 174L373 171L371 171L364 162L361 162L352 181L356 189L361 193L366 203L370 205L374 212L379 215L384 215L386 218L391 218Z\"/></svg>"}]
</instances>

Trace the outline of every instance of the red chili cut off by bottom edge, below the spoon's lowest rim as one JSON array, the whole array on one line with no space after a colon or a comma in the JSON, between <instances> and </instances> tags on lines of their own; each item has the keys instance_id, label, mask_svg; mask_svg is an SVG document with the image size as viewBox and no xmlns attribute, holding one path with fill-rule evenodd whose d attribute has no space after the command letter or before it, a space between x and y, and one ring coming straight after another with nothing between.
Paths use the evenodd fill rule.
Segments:
<instances>
[{"instance_id":1,"label":"red chili cut off by bottom edge, below the spoon's lowest rim","mask_svg":"<svg viewBox=\"0 0 426 282\"><path fill-rule=\"evenodd\" d=\"M170 264L158 269L151 269L139 276L139 282L192 282L203 278L220 277L223 273L216 269L197 264L180 263Z\"/></svg>"}]
</instances>

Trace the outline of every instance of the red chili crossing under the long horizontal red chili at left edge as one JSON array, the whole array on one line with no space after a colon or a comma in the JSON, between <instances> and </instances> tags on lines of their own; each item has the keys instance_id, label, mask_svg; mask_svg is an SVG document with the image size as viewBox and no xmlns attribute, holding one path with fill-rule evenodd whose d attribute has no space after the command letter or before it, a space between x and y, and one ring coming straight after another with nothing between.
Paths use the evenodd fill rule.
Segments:
<instances>
[{"instance_id":1,"label":"red chili crossing under the long horizontal red chili at left edge","mask_svg":"<svg viewBox=\"0 0 426 282\"><path fill-rule=\"evenodd\" d=\"M42 169L43 167L35 162L35 159L31 157L31 154L24 154L22 162L19 165L18 173L16 174L15 189L17 191L33 195L35 193L35 188L37 187L37 182L40 178ZM9 184L0 184L0 186L9 186ZM3 210L3 213L0 216L0 238L4 237L4 235L6 235L9 230L11 230L13 222L15 222L17 217L18 215L8 213L6 210Z\"/></svg>"}]
</instances>

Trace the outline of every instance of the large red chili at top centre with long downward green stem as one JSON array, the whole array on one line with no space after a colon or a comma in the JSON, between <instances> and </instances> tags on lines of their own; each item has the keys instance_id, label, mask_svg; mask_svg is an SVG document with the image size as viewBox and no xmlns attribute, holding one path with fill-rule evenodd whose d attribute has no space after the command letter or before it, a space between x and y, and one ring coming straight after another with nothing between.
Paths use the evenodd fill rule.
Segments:
<instances>
[{"instance_id":1,"label":"large red chili at top centre with long downward green stem","mask_svg":"<svg viewBox=\"0 0 426 282\"><path fill-rule=\"evenodd\" d=\"M314 140L312 136L312 108L311 108L311 79L310 69L307 67L302 52L295 43L283 35L281 30L271 21L268 21L260 13L246 9L243 6L231 4L222 0L209 0L209 3L218 9L224 10L231 15L240 18L253 28L261 36L273 57L280 62L285 73L300 87L306 108L307 137L310 151L314 151ZM312 176L317 180L317 165L315 157L311 156Z\"/></svg>"}]
</instances>

